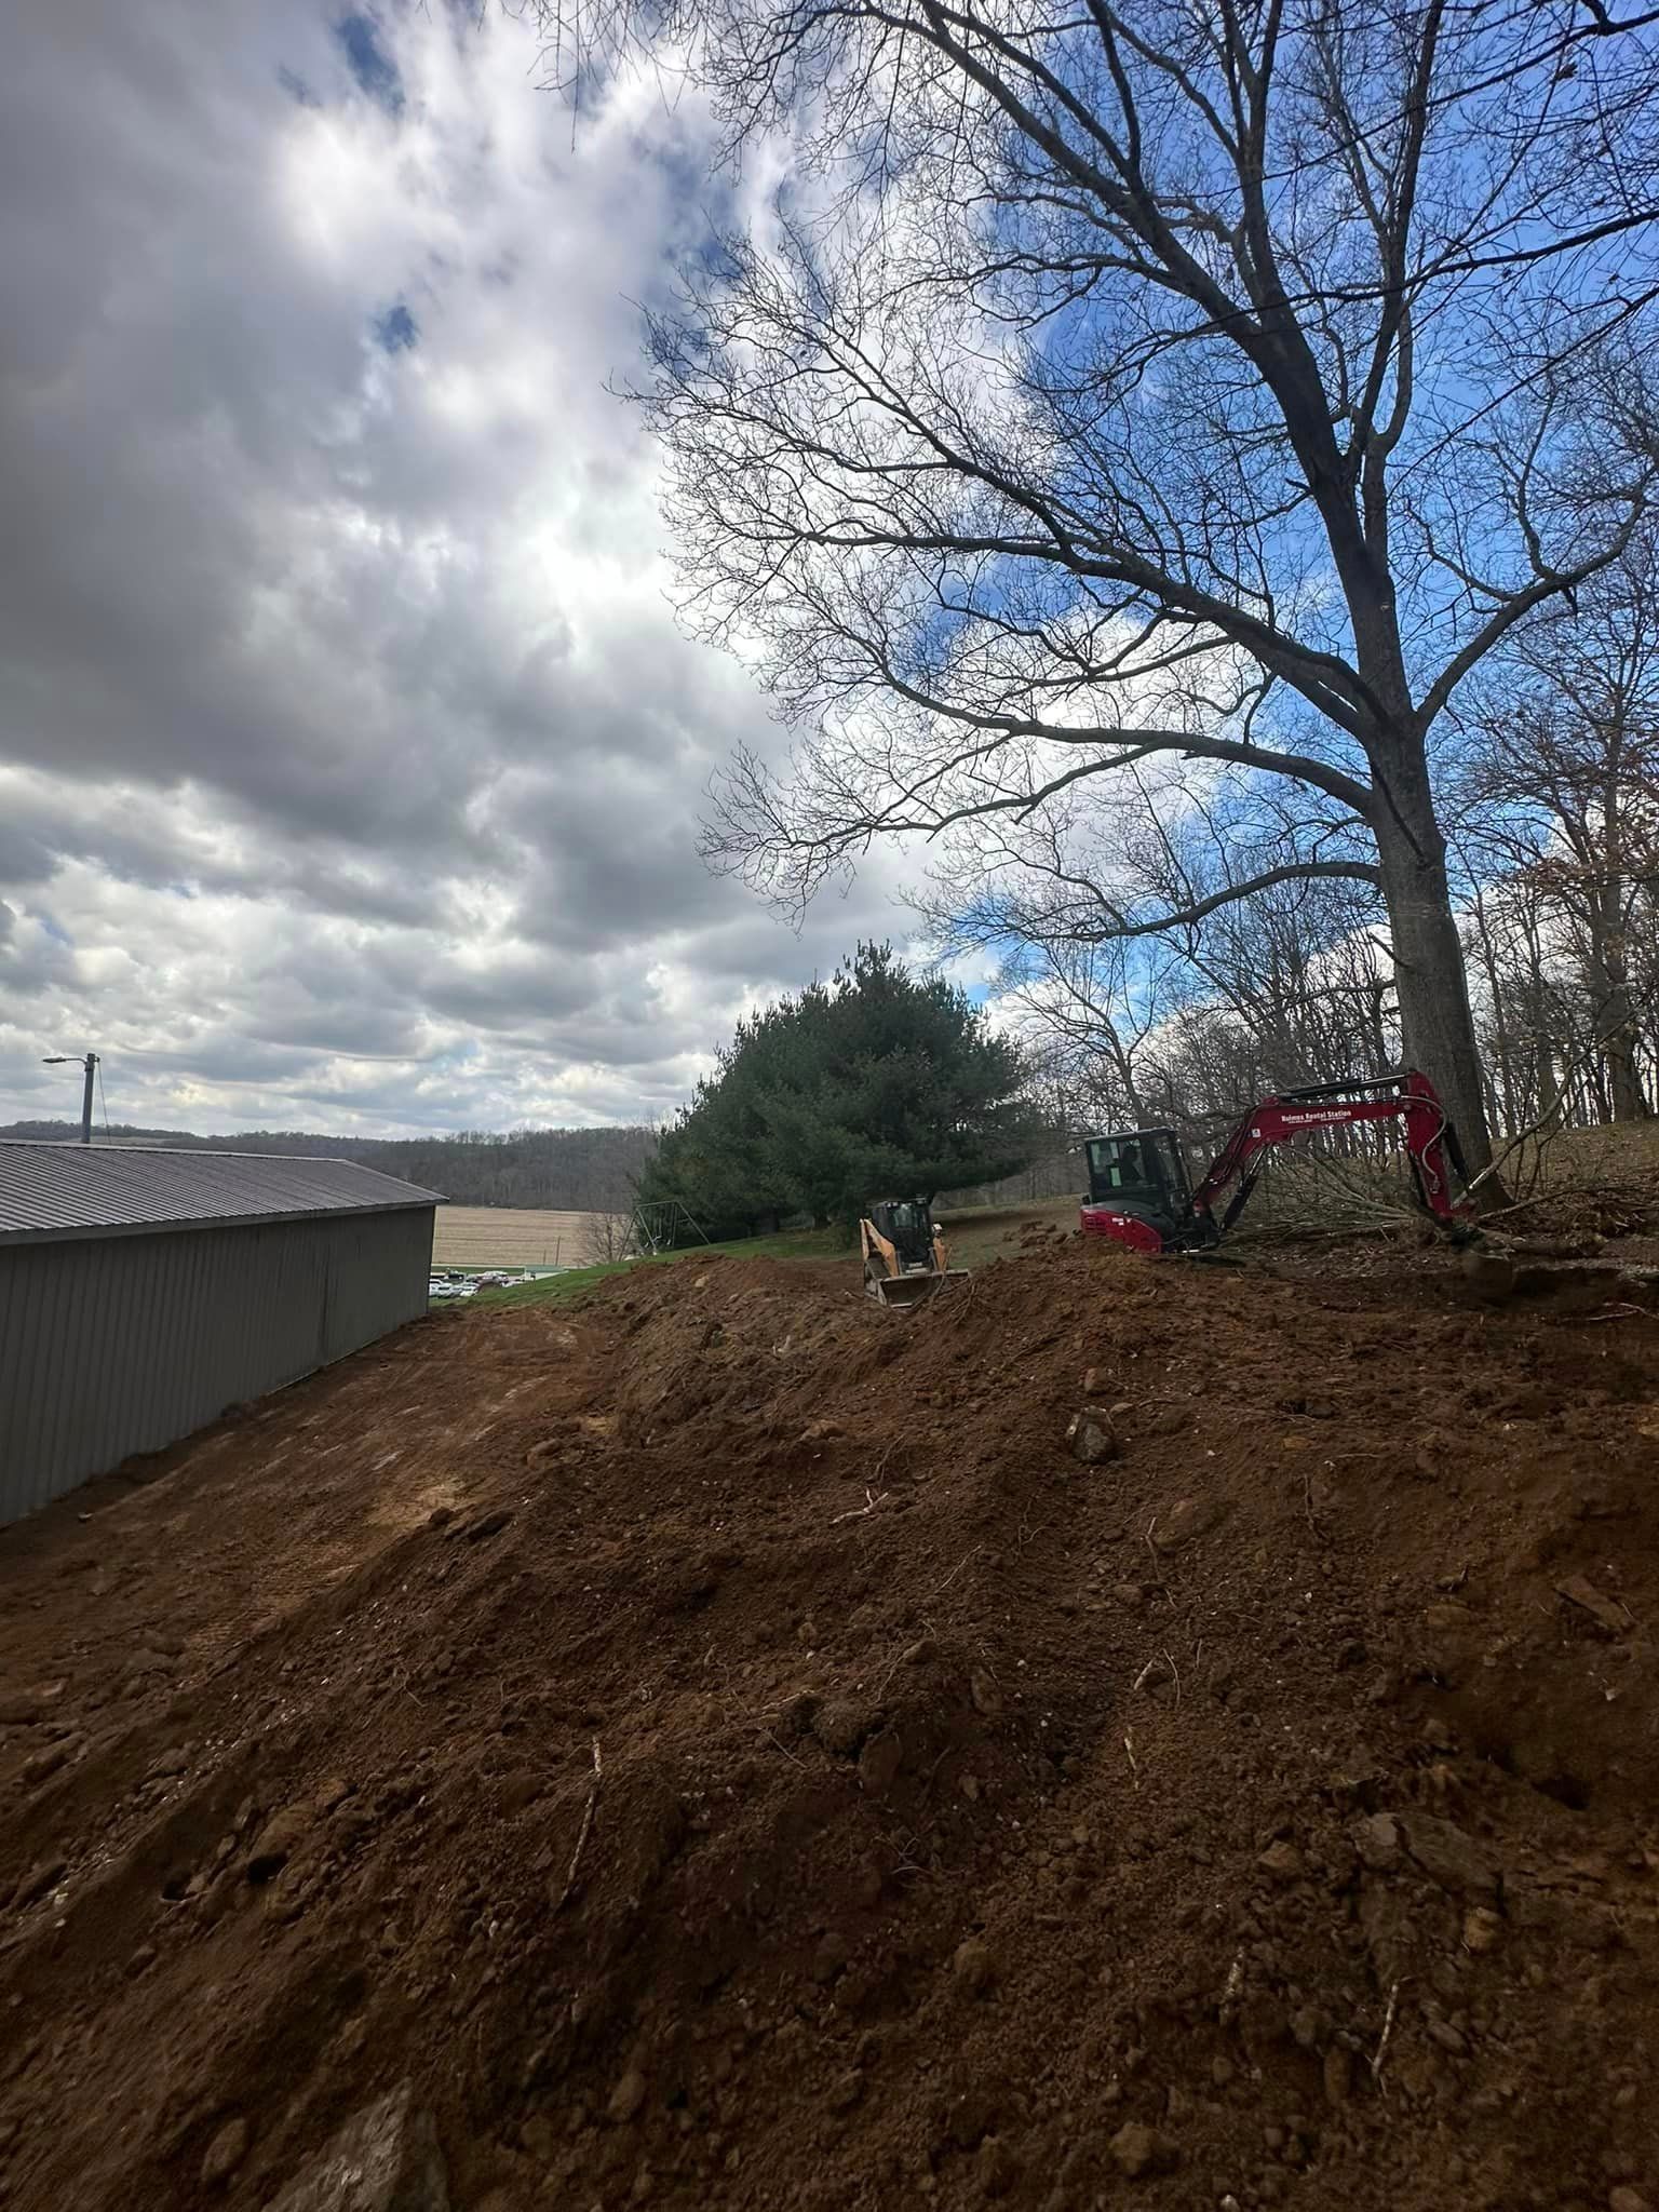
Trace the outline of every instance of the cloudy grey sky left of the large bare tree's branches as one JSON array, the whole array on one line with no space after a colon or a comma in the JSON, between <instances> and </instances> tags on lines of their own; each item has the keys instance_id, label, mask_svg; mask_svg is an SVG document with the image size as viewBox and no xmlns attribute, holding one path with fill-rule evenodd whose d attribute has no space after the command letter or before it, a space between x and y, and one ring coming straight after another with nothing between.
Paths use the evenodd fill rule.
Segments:
<instances>
[{"instance_id":1,"label":"cloudy grey sky left of the large bare tree's branches","mask_svg":"<svg viewBox=\"0 0 1659 2212\"><path fill-rule=\"evenodd\" d=\"M697 104L573 124L442 0L55 0L0 77L0 1121L664 1115L907 933L697 858L785 739L668 604L608 383L719 206Z\"/></svg>"}]
</instances>

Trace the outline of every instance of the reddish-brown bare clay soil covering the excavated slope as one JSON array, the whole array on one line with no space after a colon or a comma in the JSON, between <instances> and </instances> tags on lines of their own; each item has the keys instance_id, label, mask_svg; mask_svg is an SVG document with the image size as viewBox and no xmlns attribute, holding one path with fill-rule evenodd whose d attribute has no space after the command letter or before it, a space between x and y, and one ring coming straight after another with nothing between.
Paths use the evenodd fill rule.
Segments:
<instances>
[{"instance_id":1,"label":"reddish-brown bare clay soil covering the excavated slope","mask_svg":"<svg viewBox=\"0 0 1659 2212\"><path fill-rule=\"evenodd\" d=\"M650 1267L9 1531L7 2212L1659 2205L1659 1318L1511 1287Z\"/></svg>"}]
</instances>

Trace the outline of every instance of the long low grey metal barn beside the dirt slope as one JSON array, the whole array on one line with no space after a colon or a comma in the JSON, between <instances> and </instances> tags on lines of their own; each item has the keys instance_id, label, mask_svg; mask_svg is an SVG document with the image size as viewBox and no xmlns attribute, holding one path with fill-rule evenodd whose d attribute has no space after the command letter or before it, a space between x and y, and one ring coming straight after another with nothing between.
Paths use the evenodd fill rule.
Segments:
<instances>
[{"instance_id":1,"label":"long low grey metal barn beside the dirt slope","mask_svg":"<svg viewBox=\"0 0 1659 2212\"><path fill-rule=\"evenodd\" d=\"M0 1141L0 1524L425 1314L436 1206L354 1159Z\"/></svg>"}]
</instances>

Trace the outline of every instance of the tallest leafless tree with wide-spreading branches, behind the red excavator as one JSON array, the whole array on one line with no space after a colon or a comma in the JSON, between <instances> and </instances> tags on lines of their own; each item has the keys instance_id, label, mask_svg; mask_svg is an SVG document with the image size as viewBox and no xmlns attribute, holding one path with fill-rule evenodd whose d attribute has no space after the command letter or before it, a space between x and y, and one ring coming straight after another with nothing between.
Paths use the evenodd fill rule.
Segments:
<instances>
[{"instance_id":1,"label":"tallest leafless tree with wide-spreading branches, behind the red excavator","mask_svg":"<svg viewBox=\"0 0 1659 2212\"><path fill-rule=\"evenodd\" d=\"M810 737L706 849L785 907L874 838L1152 754L1272 774L1369 883L1486 1157L1431 737L1648 498L1646 15L1380 0L684 0L732 137L644 394L686 611Z\"/></svg>"}]
</instances>

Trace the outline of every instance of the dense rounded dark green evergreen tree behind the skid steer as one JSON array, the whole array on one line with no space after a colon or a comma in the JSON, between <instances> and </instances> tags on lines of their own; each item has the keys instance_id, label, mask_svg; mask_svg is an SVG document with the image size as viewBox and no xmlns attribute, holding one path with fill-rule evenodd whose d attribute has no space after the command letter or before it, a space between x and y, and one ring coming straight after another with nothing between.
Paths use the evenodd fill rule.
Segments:
<instances>
[{"instance_id":1,"label":"dense rounded dark green evergreen tree behind the skid steer","mask_svg":"<svg viewBox=\"0 0 1659 2212\"><path fill-rule=\"evenodd\" d=\"M832 982L741 1022L639 1179L710 1237L858 1219L1026 1166L1022 1062L967 993L860 945Z\"/></svg>"}]
</instances>

